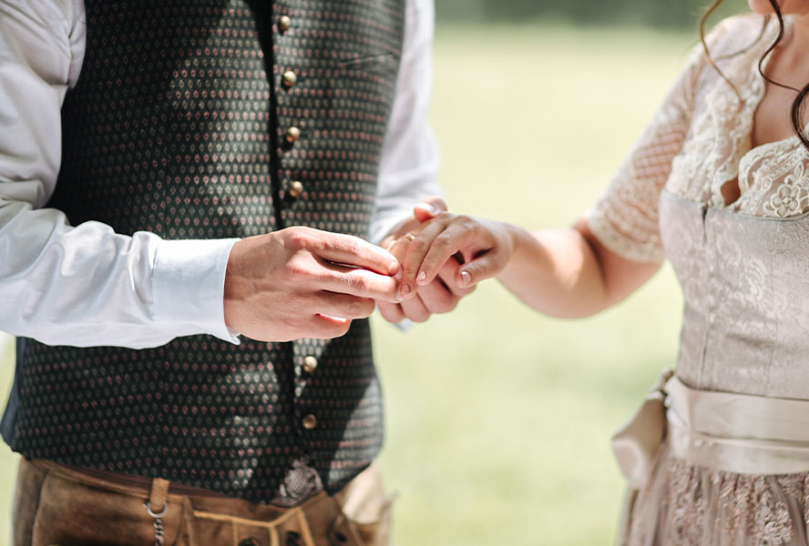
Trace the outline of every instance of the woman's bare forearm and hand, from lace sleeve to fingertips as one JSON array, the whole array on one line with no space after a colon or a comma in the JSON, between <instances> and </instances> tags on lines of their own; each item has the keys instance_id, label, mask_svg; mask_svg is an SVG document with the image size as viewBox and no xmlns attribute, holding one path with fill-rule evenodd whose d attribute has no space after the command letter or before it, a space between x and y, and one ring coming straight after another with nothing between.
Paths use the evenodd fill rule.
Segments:
<instances>
[{"instance_id":1,"label":"woman's bare forearm and hand, from lace sleeve to fingertips","mask_svg":"<svg viewBox=\"0 0 809 546\"><path fill-rule=\"evenodd\" d=\"M406 237L405 237L406 236ZM433 281L447 260L462 258L457 288L497 277L527 305L548 315L576 319L609 308L640 287L656 264L621 258L595 238L584 220L575 227L529 232L485 218L440 212L397 238L401 284ZM400 298L412 298L413 289Z\"/></svg>"}]
</instances>

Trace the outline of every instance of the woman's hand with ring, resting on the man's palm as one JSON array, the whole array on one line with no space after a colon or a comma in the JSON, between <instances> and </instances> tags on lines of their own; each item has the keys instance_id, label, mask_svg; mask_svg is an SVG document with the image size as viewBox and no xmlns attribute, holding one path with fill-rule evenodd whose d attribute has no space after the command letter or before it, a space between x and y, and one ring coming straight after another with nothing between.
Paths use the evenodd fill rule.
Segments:
<instances>
[{"instance_id":1,"label":"woman's hand with ring, resting on the man's palm","mask_svg":"<svg viewBox=\"0 0 809 546\"><path fill-rule=\"evenodd\" d=\"M399 298L412 298L453 262L459 265L445 282L456 289L473 288L507 266L514 246L512 227L502 222L450 212L425 217L389 248L403 264Z\"/></svg>"}]
</instances>

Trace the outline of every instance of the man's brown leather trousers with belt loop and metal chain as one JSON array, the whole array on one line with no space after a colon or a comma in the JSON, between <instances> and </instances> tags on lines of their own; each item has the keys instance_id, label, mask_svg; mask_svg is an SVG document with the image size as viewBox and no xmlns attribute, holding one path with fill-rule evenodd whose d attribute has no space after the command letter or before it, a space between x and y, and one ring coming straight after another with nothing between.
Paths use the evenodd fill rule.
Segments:
<instances>
[{"instance_id":1,"label":"man's brown leather trousers with belt loop and metal chain","mask_svg":"<svg viewBox=\"0 0 809 546\"><path fill-rule=\"evenodd\" d=\"M372 466L334 495L281 508L103 480L44 460L20 461L14 546L386 546L390 501Z\"/></svg>"}]
</instances>

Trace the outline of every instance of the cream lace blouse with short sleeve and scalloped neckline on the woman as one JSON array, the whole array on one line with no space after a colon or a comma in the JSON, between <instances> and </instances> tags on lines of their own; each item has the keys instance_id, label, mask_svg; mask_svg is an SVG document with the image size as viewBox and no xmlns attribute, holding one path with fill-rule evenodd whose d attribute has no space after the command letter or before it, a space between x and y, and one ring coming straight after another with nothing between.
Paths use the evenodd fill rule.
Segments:
<instances>
[{"instance_id":1,"label":"cream lace blouse with short sleeve and scalloped neckline on the woman","mask_svg":"<svg viewBox=\"0 0 809 546\"><path fill-rule=\"evenodd\" d=\"M710 66L702 45L694 49L650 126L588 212L590 230L612 251L640 262L665 258L658 227L663 188L742 215L794 217L809 211L809 153L798 137L751 146L753 114L765 89L758 61L777 35L777 21L763 33L762 28L760 15L732 17L707 38L712 58L738 94ZM737 183L741 196L726 203L722 187Z\"/></svg>"}]
</instances>

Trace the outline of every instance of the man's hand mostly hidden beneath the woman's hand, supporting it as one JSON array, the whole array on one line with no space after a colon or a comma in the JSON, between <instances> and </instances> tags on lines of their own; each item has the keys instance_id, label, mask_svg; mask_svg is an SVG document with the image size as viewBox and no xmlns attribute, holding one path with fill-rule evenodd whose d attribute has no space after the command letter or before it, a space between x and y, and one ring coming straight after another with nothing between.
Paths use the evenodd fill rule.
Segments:
<instances>
[{"instance_id":1,"label":"man's hand mostly hidden beneath the woman's hand, supporting it","mask_svg":"<svg viewBox=\"0 0 809 546\"><path fill-rule=\"evenodd\" d=\"M384 239L382 246L403 263L410 240L405 237L410 231L415 230L422 222L446 210L446 204L440 197L427 197L415 206L413 217L405 221L400 227ZM377 301L377 307L384 319L389 322L400 322L403 319L410 319L414 322L424 322L435 313L446 313L458 304L460 298L470 293L472 288L459 288L454 282L460 263L456 258L445 260L442 268L431 282L424 286L416 287L411 284L400 294L398 303L387 301Z\"/></svg>"}]
</instances>

